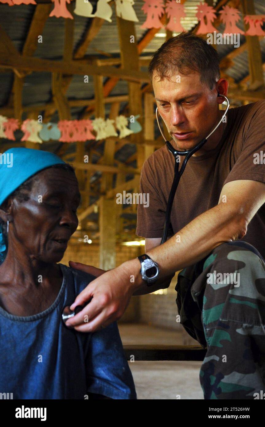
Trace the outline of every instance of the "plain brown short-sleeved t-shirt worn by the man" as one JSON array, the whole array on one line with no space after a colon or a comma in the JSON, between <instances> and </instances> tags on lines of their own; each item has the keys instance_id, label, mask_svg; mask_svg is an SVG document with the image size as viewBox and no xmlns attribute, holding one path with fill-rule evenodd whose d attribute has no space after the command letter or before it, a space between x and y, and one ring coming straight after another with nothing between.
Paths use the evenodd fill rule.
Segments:
<instances>
[{"instance_id":1,"label":"plain brown short-sleeved t-shirt worn by the man","mask_svg":"<svg viewBox=\"0 0 265 427\"><path fill-rule=\"evenodd\" d=\"M256 164L254 153L259 154L260 164ZM180 158L179 170L185 156ZM144 204L137 207L137 236L162 237L174 164L174 156L166 144L144 162L140 193L149 193L149 207ZM224 184L238 179L265 182L265 100L230 108L224 135L215 149L189 158L172 206L173 234L218 205ZM253 216L241 240L255 246L265 258L265 204Z\"/></svg>"}]
</instances>

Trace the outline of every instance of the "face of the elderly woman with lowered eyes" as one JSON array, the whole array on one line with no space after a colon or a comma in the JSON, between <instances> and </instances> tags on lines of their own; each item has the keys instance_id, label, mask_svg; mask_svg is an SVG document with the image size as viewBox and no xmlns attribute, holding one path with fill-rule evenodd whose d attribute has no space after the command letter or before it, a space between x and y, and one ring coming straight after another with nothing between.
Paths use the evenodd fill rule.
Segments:
<instances>
[{"instance_id":1,"label":"face of the elderly woman with lowered eyes","mask_svg":"<svg viewBox=\"0 0 265 427\"><path fill-rule=\"evenodd\" d=\"M74 173L56 168L41 171L38 178L29 200L12 200L9 248L32 259L56 263L78 225L78 181Z\"/></svg>"}]
</instances>

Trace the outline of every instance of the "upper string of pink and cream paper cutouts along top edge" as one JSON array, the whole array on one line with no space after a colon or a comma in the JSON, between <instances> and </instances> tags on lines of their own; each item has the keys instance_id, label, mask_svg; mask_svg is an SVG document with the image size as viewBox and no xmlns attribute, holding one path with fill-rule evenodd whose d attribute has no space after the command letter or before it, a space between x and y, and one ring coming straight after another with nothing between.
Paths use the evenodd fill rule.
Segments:
<instances>
[{"instance_id":1,"label":"upper string of pink and cream paper cutouts along top edge","mask_svg":"<svg viewBox=\"0 0 265 427\"><path fill-rule=\"evenodd\" d=\"M71 0L52 0L54 8L49 16L56 18L70 18L73 15L68 11L66 3ZM98 0L96 5L96 12L93 14L93 6L89 0L76 0L76 7L74 13L87 18L98 17L112 22L111 16L113 11L108 4L110 0ZM134 11L134 0L114 0L116 16L119 18L139 22L137 15ZM20 4L37 4L35 0L0 0L0 3L7 3L9 6ZM185 31L181 25L181 19L186 17L185 6L181 4L181 0L144 0L141 8L146 14L146 20L141 28L166 28L169 31L182 32ZM161 23L160 18L163 14L167 15L169 21L166 26ZM197 34L207 34L216 31L213 22L216 19L216 10L213 6L201 2L197 6L195 17L198 19L200 25ZM249 24L249 29L244 32L236 23L239 22L241 16L239 9L223 6L220 11L220 20L224 23L224 34L239 33L245 35L259 35L265 36L262 25L265 22L265 15L243 15L246 24Z\"/></svg>"}]
</instances>

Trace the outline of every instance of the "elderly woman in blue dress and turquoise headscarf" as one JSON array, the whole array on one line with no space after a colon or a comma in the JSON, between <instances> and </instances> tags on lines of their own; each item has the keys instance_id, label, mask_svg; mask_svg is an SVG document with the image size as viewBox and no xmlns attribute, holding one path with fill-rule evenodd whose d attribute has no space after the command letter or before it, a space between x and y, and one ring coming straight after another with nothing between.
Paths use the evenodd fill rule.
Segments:
<instances>
[{"instance_id":1,"label":"elderly woman in blue dress and turquoise headscarf","mask_svg":"<svg viewBox=\"0 0 265 427\"><path fill-rule=\"evenodd\" d=\"M73 168L12 148L0 162L0 392L14 399L136 399L116 322L94 333L61 321L95 276L58 263L76 231ZM7 162L6 162L7 163Z\"/></svg>"}]
</instances>

